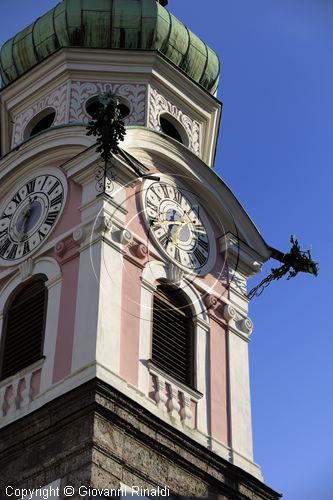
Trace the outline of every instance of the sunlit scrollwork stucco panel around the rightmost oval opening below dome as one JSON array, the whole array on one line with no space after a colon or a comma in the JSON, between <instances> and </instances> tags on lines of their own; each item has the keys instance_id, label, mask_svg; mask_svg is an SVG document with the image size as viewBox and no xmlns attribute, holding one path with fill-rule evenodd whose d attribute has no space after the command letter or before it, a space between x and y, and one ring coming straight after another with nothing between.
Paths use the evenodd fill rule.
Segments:
<instances>
[{"instance_id":1,"label":"sunlit scrollwork stucco panel around the rightmost oval opening below dome","mask_svg":"<svg viewBox=\"0 0 333 500\"><path fill-rule=\"evenodd\" d=\"M189 149L200 156L200 124L192 120L181 109L163 97L156 89L151 89L149 99L149 126L155 130L161 131L160 115L169 113L186 130L189 139Z\"/></svg>"}]
</instances>

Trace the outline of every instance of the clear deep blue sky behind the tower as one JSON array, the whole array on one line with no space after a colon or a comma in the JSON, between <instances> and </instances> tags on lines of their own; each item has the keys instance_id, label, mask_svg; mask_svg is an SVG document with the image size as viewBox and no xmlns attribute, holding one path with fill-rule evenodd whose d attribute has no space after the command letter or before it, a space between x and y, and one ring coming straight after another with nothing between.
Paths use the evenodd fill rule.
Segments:
<instances>
[{"instance_id":1,"label":"clear deep blue sky behind the tower","mask_svg":"<svg viewBox=\"0 0 333 500\"><path fill-rule=\"evenodd\" d=\"M56 0L1 0L0 44ZM255 459L287 500L333 498L331 0L169 0L222 61L216 169L266 241L312 245L318 278L253 299ZM265 273L271 266L266 265ZM252 285L252 284L251 284Z\"/></svg>"}]
</instances>

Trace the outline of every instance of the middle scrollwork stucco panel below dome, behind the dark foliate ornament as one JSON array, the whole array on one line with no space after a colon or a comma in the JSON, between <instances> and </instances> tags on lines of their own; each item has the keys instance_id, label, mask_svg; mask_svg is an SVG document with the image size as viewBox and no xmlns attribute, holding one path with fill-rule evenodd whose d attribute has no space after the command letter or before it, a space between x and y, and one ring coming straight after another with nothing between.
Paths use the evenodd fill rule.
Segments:
<instances>
[{"instance_id":1,"label":"middle scrollwork stucco panel below dome, behind the dark foliate ornament","mask_svg":"<svg viewBox=\"0 0 333 500\"><path fill-rule=\"evenodd\" d=\"M131 111L124 120L125 125L145 124L146 85L83 81L71 83L70 122L88 123L90 117L85 107L87 100L108 91L124 97L129 102Z\"/></svg>"}]
</instances>

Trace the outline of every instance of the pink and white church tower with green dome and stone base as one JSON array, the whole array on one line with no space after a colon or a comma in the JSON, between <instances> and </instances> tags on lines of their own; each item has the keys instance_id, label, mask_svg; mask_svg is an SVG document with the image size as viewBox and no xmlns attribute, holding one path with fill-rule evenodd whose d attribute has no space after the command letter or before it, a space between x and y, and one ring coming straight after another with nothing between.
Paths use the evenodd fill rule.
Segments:
<instances>
[{"instance_id":1,"label":"pink and white church tower with green dome and stone base","mask_svg":"<svg viewBox=\"0 0 333 500\"><path fill-rule=\"evenodd\" d=\"M248 368L270 249L213 170L218 57L167 3L63 0L1 49L5 498L279 498ZM107 92L126 135L104 176Z\"/></svg>"}]
</instances>

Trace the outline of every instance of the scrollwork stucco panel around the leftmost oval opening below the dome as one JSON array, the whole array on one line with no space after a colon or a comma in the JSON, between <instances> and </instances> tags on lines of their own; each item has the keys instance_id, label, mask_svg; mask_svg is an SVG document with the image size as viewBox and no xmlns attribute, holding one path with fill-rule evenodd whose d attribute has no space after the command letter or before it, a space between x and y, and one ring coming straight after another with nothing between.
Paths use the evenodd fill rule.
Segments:
<instances>
[{"instance_id":1,"label":"scrollwork stucco panel around the leftmost oval opening below the dome","mask_svg":"<svg viewBox=\"0 0 333 500\"><path fill-rule=\"evenodd\" d=\"M61 85L52 93L35 102L18 116L14 117L12 147L20 144L24 139L24 130L30 120L46 108L54 108L56 116L53 125L61 125L66 122L66 96L67 85Z\"/></svg>"}]
</instances>

